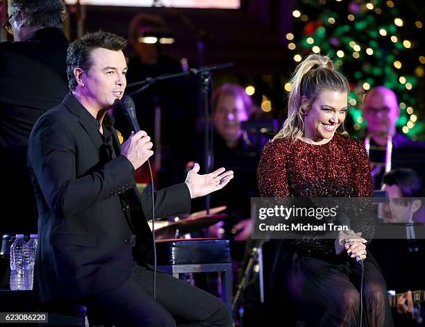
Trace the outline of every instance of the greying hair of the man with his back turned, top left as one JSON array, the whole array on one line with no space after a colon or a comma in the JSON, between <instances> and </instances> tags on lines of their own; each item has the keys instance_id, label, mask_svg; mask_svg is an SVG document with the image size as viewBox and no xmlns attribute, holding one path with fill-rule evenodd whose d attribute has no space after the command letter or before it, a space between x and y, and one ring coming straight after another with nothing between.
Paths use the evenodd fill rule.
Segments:
<instances>
[{"instance_id":1,"label":"greying hair of the man with his back turned, top left","mask_svg":"<svg viewBox=\"0 0 425 327\"><path fill-rule=\"evenodd\" d=\"M66 6L63 0L8 0L9 15L16 15L18 10L25 12L25 26L62 28Z\"/></svg>"}]
</instances>

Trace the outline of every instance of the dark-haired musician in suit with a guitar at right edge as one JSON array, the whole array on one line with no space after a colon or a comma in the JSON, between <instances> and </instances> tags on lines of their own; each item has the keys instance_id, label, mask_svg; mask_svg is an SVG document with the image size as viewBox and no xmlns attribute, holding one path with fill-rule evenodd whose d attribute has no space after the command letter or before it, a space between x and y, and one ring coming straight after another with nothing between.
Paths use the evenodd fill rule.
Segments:
<instances>
[{"instance_id":1,"label":"dark-haired musician in suit with a guitar at right edge","mask_svg":"<svg viewBox=\"0 0 425 327\"><path fill-rule=\"evenodd\" d=\"M425 258L425 227L414 219L422 206L421 177L412 169L394 169L383 176L382 190L389 198L389 202L382 205L383 227L387 227L387 234L394 238L373 240L371 246L387 287L402 292L425 290L424 274L418 268ZM399 314L394 315L396 326L415 326L422 322L420 303L412 302L410 291L399 296L396 305Z\"/></svg>"}]
</instances>

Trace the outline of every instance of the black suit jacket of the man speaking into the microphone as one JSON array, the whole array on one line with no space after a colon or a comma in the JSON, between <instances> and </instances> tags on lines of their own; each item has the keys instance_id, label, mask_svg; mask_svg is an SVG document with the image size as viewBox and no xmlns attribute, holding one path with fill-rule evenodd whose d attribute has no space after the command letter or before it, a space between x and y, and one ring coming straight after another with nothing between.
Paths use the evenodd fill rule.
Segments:
<instances>
[{"instance_id":1,"label":"black suit jacket of the man speaking into the microphone","mask_svg":"<svg viewBox=\"0 0 425 327\"><path fill-rule=\"evenodd\" d=\"M131 274L133 234L149 249L151 196L135 188L131 162L101 163L93 119L72 95L35 124L28 147L38 203L40 243L35 280L43 302L76 299L113 288ZM105 119L112 119L108 114ZM156 217L190 210L181 183L155 194Z\"/></svg>"}]
</instances>

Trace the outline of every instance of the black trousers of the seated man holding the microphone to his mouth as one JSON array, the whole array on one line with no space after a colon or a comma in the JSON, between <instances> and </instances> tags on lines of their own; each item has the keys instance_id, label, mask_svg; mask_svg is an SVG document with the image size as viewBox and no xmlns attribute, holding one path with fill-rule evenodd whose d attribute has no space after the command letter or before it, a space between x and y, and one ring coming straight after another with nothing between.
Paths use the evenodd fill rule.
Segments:
<instances>
[{"instance_id":1,"label":"black trousers of the seated man holding the microphone to his mouth","mask_svg":"<svg viewBox=\"0 0 425 327\"><path fill-rule=\"evenodd\" d=\"M228 326L229 312L215 296L158 271L156 300L152 285L153 270L133 265L131 278L124 284L86 299L90 322L107 319L125 327Z\"/></svg>"}]
</instances>

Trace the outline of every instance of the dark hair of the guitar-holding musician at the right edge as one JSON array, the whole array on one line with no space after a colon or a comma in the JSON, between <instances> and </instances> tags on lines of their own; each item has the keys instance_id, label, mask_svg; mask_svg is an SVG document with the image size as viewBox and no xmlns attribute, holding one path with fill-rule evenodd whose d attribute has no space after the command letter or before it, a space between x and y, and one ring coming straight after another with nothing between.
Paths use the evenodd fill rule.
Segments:
<instances>
[{"instance_id":1,"label":"dark hair of the guitar-holding musician at the right edge","mask_svg":"<svg viewBox=\"0 0 425 327\"><path fill-rule=\"evenodd\" d=\"M399 168L388 171L383 176L383 183L397 185L404 197L422 196L422 178L410 168Z\"/></svg>"}]
</instances>

